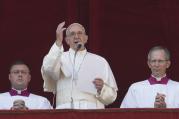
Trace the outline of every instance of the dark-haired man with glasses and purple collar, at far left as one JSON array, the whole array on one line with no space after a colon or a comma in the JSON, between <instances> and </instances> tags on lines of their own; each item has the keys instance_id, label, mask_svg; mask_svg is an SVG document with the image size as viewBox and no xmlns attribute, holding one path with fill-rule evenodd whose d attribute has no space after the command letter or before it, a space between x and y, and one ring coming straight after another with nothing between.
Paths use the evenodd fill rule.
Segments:
<instances>
[{"instance_id":1,"label":"dark-haired man with glasses and purple collar, at far left","mask_svg":"<svg viewBox=\"0 0 179 119\"><path fill-rule=\"evenodd\" d=\"M28 91L31 75L27 64L22 61L14 62L10 66L9 80L11 89L9 92L0 94L0 109L52 109L50 102L45 97Z\"/></svg>"}]
</instances>

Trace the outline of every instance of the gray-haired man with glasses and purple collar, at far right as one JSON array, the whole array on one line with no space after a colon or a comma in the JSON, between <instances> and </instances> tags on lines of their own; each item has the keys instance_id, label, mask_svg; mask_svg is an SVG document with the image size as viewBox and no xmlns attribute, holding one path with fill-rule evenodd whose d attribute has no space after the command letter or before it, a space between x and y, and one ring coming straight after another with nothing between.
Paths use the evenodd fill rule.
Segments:
<instances>
[{"instance_id":1,"label":"gray-haired man with glasses and purple collar, at far right","mask_svg":"<svg viewBox=\"0 0 179 119\"><path fill-rule=\"evenodd\" d=\"M179 83L167 77L170 53L167 48L156 46L148 53L151 76L130 86L121 108L178 108Z\"/></svg>"}]
</instances>

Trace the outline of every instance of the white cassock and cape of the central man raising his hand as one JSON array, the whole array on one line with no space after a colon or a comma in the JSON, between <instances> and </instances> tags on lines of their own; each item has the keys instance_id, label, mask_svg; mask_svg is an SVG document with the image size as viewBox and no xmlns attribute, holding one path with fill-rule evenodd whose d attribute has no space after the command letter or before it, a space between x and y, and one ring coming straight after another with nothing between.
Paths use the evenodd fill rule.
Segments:
<instances>
[{"instance_id":1,"label":"white cassock and cape of the central man raising his hand","mask_svg":"<svg viewBox=\"0 0 179 119\"><path fill-rule=\"evenodd\" d=\"M86 50L52 46L42 65L44 91L56 94L56 108L102 109L117 97L117 85L107 61ZM98 94L93 80L102 78L104 86Z\"/></svg>"}]
</instances>

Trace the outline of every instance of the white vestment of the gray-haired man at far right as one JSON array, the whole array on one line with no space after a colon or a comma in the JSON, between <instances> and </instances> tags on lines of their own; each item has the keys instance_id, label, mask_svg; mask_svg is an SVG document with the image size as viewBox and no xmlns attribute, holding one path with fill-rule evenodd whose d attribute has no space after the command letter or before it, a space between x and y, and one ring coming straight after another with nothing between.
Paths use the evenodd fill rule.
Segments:
<instances>
[{"instance_id":1,"label":"white vestment of the gray-haired man at far right","mask_svg":"<svg viewBox=\"0 0 179 119\"><path fill-rule=\"evenodd\" d=\"M129 87L120 108L154 108L157 93L165 94L167 108L179 108L179 83L169 80L167 84L153 84L148 80Z\"/></svg>"}]
</instances>

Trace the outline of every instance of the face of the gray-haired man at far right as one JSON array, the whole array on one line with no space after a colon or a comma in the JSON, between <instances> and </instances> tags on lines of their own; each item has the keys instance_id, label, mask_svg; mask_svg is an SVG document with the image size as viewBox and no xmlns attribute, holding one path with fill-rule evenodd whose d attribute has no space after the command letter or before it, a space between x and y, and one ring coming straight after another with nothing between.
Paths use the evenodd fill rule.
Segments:
<instances>
[{"instance_id":1,"label":"face of the gray-haired man at far right","mask_svg":"<svg viewBox=\"0 0 179 119\"><path fill-rule=\"evenodd\" d=\"M170 61L166 59L164 50L154 50L148 59L148 66L155 77L164 76L170 64Z\"/></svg>"}]
</instances>

